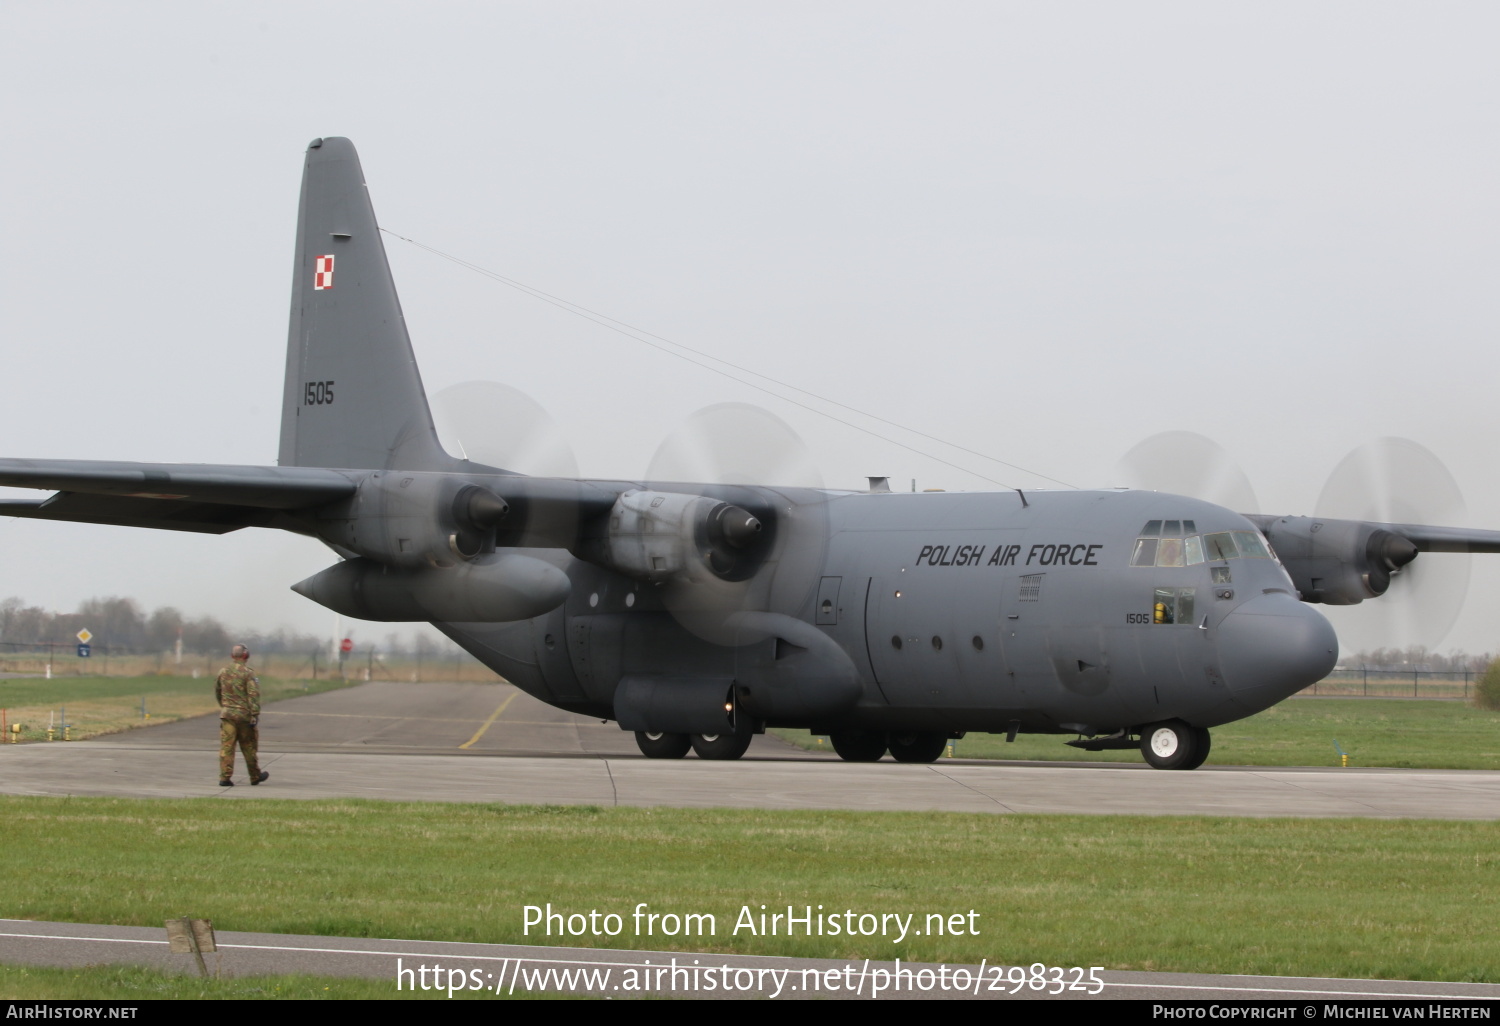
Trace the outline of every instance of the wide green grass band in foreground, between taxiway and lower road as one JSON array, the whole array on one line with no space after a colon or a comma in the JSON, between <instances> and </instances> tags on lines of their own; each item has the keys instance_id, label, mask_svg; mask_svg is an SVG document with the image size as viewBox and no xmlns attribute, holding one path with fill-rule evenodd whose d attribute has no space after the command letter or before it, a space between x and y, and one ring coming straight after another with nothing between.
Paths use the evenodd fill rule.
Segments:
<instances>
[{"instance_id":1,"label":"wide green grass band in foreground, between taxiway and lower road","mask_svg":"<svg viewBox=\"0 0 1500 1026\"><path fill-rule=\"evenodd\" d=\"M831 958L1500 981L1500 830L362 801L0 798L0 915ZM616 938L522 906L618 912ZM636 936L636 903L717 916ZM765 938L742 906L980 914L980 936Z\"/></svg>"}]
</instances>

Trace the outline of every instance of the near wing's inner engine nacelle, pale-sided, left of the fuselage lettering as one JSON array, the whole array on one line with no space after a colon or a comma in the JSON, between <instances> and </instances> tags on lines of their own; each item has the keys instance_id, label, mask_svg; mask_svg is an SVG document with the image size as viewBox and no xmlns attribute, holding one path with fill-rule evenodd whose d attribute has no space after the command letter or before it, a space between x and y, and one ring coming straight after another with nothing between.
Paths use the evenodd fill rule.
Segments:
<instances>
[{"instance_id":1,"label":"near wing's inner engine nacelle, pale-sided, left of the fuselage lettering","mask_svg":"<svg viewBox=\"0 0 1500 1026\"><path fill-rule=\"evenodd\" d=\"M732 502L674 492L626 492L609 512L598 556L640 580L712 574L741 580L754 572L760 520Z\"/></svg>"}]
</instances>

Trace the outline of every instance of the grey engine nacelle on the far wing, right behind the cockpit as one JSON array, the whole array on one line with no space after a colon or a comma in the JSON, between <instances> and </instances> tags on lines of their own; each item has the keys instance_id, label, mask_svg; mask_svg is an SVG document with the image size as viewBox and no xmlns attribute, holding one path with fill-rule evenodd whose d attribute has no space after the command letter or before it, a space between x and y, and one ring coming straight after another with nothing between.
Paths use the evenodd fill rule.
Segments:
<instances>
[{"instance_id":1,"label":"grey engine nacelle on the far wing, right behind the cockpit","mask_svg":"<svg viewBox=\"0 0 1500 1026\"><path fill-rule=\"evenodd\" d=\"M1252 518L1292 576L1302 602L1353 606L1378 598L1418 548L1364 520L1311 516Z\"/></svg>"}]
</instances>

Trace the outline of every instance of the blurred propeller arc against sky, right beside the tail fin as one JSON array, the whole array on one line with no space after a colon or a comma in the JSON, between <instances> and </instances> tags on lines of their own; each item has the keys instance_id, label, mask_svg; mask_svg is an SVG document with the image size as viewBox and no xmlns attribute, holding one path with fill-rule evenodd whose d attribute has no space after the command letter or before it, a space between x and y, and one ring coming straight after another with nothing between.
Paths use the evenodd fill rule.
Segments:
<instances>
[{"instance_id":1,"label":"blurred propeller arc against sky, right beside the tail fin","mask_svg":"<svg viewBox=\"0 0 1500 1026\"><path fill-rule=\"evenodd\" d=\"M578 477L578 459L548 411L498 381L464 381L432 396L438 441L453 456L531 477Z\"/></svg>"}]
</instances>

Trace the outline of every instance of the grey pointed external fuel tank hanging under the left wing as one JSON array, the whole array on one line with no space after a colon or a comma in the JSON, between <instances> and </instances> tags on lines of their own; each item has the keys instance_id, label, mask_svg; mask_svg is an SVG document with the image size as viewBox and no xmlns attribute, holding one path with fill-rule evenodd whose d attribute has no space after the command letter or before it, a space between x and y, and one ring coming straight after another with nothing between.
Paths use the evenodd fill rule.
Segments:
<instances>
[{"instance_id":1,"label":"grey pointed external fuel tank hanging under the left wing","mask_svg":"<svg viewBox=\"0 0 1500 1026\"><path fill-rule=\"evenodd\" d=\"M540 616L567 598L572 582L550 562L504 552L442 568L348 560L291 590L358 620L471 624Z\"/></svg>"}]
</instances>

